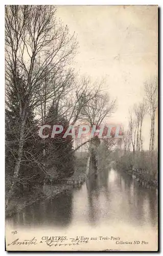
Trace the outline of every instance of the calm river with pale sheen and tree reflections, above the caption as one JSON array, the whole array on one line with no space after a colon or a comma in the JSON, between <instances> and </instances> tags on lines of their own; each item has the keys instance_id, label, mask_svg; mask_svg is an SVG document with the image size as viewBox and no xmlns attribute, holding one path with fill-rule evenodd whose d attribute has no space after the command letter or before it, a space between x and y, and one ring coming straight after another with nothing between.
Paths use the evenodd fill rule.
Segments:
<instances>
[{"instance_id":1,"label":"calm river with pale sheen and tree reflections, above the caption","mask_svg":"<svg viewBox=\"0 0 163 256\"><path fill-rule=\"evenodd\" d=\"M156 240L157 208L156 188L147 188L110 165L80 188L26 207L8 218L6 226L10 230L38 230L42 236L46 230L62 236L80 230L99 236L109 232L123 239L133 233L148 239L150 234Z\"/></svg>"}]
</instances>

